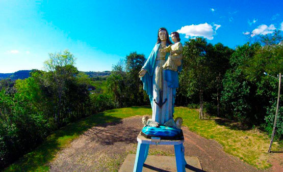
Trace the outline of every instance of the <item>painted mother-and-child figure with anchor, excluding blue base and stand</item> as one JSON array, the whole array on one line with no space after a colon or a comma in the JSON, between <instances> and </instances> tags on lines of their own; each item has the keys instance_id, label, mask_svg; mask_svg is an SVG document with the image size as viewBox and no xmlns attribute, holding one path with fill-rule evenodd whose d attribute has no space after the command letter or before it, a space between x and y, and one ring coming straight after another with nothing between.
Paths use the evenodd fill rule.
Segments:
<instances>
[{"instance_id":1,"label":"painted mother-and-child figure with anchor, excluding blue base and stand","mask_svg":"<svg viewBox=\"0 0 283 172\"><path fill-rule=\"evenodd\" d=\"M152 108L152 119L147 120L156 122L152 125L150 121L151 126L158 124L177 128L172 123L178 72L182 70L183 46L177 32L173 32L171 38L174 44L169 40L166 28L159 29L157 43L139 72Z\"/></svg>"}]
</instances>

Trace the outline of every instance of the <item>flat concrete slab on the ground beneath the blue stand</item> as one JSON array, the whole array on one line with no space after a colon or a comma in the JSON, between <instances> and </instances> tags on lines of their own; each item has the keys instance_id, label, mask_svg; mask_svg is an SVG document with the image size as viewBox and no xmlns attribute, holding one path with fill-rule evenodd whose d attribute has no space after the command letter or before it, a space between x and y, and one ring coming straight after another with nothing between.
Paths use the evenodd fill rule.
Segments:
<instances>
[{"instance_id":1,"label":"flat concrete slab on the ground beneath the blue stand","mask_svg":"<svg viewBox=\"0 0 283 172\"><path fill-rule=\"evenodd\" d=\"M133 172L136 154L128 154L119 172ZM197 157L185 156L187 161L186 171L203 171ZM148 155L143 164L142 171L177 171L174 156Z\"/></svg>"}]
</instances>

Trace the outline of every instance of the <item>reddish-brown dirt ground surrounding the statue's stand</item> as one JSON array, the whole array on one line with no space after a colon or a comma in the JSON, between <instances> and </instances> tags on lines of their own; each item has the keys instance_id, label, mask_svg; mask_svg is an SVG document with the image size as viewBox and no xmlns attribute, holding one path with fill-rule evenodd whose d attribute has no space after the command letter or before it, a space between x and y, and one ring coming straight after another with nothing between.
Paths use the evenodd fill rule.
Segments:
<instances>
[{"instance_id":1,"label":"reddish-brown dirt ground surrounding the statue's stand","mask_svg":"<svg viewBox=\"0 0 283 172\"><path fill-rule=\"evenodd\" d=\"M50 171L115 171L127 153L135 153L141 116L126 118L118 124L95 126L60 151L49 164ZM259 171L239 158L225 153L215 140L206 139L183 127L185 155L199 158L205 171ZM174 155L172 146L150 146L149 154ZM275 167L275 168L274 168ZM268 171L278 171L281 165Z\"/></svg>"}]
</instances>

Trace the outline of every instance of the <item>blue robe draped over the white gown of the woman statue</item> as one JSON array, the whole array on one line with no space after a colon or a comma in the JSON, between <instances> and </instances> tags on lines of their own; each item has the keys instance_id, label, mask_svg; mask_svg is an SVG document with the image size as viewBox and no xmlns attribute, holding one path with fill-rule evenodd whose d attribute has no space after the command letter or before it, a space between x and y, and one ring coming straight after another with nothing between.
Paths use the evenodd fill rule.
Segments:
<instances>
[{"instance_id":1,"label":"blue robe draped over the white gown of the woman statue","mask_svg":"<svg viewBox=\"0 0 283 172\"><path fill-rule=\"evenodd\" d=\"M168 46L168 45L167 45ZM146 60L142 69L146 69L146 74L141 77L143 82L143 89L146 91L147 95L149 96L151 107L153 107L153 73L155 72L156 67L156 58L158 54L158 50L160 47L160 43L156 44L155 47L152 49L148 59ZM166 53L165 60L168 59L170 53ZM178 71L181 72L182 65L178 67ZM164 70L164 79L168 82L168 87L172 88L172 114L174 113L174 103L176 98L176 88L179 87L179 80L178 80L178 72L172 70Z\"/></svg>"}]
</instances>

